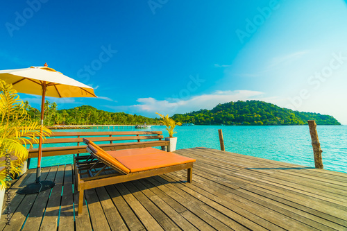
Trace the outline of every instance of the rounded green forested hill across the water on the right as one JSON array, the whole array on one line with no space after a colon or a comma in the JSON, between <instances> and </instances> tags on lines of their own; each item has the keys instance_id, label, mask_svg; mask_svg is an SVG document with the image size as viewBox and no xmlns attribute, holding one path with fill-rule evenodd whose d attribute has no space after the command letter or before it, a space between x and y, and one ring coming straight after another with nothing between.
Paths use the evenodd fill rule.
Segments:
<instances>
[{"instance_id":1,"label":"rounded green forested hill across the water on the right","mask_svg":"<svg viewBox=\"0 0 347 231\"><path fill-rule=\"evenodd\" d=\"M330 115L293 111L263 101L223 103L212 110L174 114L172 119L198 125L303 125L311 119L318 125L341 125Z\"/></svg>"}]
</instances>

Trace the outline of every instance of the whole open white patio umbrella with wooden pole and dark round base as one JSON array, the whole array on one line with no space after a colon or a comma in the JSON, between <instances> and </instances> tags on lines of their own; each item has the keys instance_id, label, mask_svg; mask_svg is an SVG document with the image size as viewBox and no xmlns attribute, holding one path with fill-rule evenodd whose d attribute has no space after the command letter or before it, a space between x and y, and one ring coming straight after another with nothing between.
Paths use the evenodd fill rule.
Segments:
<instances>
[{"instance_id":1,"label":"whole open white patio umbrella with wooden pole and dark round base","mask_svg":"<svg viewBox=\"0 0 347 231\"><path fill-rule=\"evenodd\" d=\"M96 97L94 89L73 78L69 78L55 69L51 69L45 63L44 67L29 67L24 69L12 69L0 71L0 79L6 83L12 83L13 88L20 93L37 94L42 96L41 101L41 125L44 119L45 96L65 97ZM19 191L22 194L34 194L54 186L53 182L40 181L42 157L42 138L39 142L39 155L37 161L36 180Z\"/></svg>"}]
</instances>

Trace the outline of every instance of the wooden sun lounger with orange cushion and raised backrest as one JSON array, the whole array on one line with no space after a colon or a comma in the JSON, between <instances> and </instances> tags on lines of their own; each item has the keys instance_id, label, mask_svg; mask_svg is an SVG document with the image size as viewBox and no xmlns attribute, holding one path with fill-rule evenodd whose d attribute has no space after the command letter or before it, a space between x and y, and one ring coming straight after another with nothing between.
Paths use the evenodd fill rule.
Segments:
<instances>
[{"instance_id":1,"label":"wooden sun lounger with orange cushion and raised backrest","mask_svg":"<svg viewBox=\"0 0 347 231\"><path fill-rule=\"evenodd\" d=\"M182 169L187 169L187 182L192 182L195 162L192 158L151 147L105 152L88 139L84 138L83 142L87 144L87 151L91 155L74 157L76 187L79 191L78 214L82 213L85 189L148 178ZM108 173L110 169L114 169L114 173Z\"/></svg>"}]
</instances>

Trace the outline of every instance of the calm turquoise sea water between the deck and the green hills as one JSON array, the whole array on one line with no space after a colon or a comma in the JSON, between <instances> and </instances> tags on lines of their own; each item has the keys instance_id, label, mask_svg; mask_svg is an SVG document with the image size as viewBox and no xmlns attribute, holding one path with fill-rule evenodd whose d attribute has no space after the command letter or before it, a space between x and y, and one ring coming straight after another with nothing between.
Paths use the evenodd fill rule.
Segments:
<instances>
[{"instance_id":1,"label":"calm turquoise sea water between the deck and the green hills","mask_svg":"<svg viewBox=\"0 0 347 231\"><path fill-rule=\"evenodd\" d=\"M308 126L177 126L177 149L207 147L220 149L218 129L223 130L226 151L253 155L269 160L314 167L311 137ZM107 127L74 131L128 131L134 127ZM144 130L144 129L142 129ZM161 130L169 136L164 126L145 130ZM70 131L70 130L62 130ZM72 131L72 130L71 130ZM317 126L323 150L324 169L347 173L347 126ZM42 166L72 163L72 155L43 157ZM30 168L37 166L37 158Z\"/></svg>"}]
</instances>

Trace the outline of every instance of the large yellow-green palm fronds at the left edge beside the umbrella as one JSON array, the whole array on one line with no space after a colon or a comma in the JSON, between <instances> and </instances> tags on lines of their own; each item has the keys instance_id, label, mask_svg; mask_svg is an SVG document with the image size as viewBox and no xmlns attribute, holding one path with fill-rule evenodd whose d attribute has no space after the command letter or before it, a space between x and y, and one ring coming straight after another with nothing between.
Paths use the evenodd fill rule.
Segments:
<instances>
[{"instance_id":1,"label":"large yellow-green palm fronds at the left edge beside the umbrella","mask_svg":"<svg viewBox=\"0 0 347 231\"><path fill-rule=\"evenodd\" d=\"M51 132L31 121L23 101L16 93L11 84L0 80L0 194L10 187L11 178L18 176L26 166L26 145L38 143L38 137L44 138Z\"/></svg>"}]
</instances>

